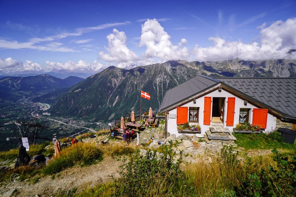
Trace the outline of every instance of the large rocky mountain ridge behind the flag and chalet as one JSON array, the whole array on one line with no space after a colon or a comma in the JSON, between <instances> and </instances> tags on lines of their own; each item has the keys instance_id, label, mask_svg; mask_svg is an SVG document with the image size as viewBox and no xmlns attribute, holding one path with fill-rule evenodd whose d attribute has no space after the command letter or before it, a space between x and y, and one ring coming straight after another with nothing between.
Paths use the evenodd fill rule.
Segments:
<instances>
[{"instance_id":1,"label":"large rocky mountain ridge behind the flag and chalet","mask_svg":"<svg viewBox=\"0 0 296 197\"><path fill-rule=\"evenodd\" d=\"M296 77L295 60L167 61L163 64L120 69L110 66L61 94L51 113L111 121L134 110L139 113L140 90L151 100L142 100L142 111L157 110L168 89L197 74L228 77Z\"/></svg>"}]
</instances>

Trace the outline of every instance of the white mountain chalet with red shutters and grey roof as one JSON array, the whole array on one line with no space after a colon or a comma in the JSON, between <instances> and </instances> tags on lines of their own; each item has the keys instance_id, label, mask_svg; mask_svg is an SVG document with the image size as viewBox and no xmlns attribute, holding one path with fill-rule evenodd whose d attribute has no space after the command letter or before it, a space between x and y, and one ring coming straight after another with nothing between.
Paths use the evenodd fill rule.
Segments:
<instances>
[{"instance_id":1,"label":"white mountain chalet with red shutters and grey roof","mask_svg":"<svg viewBox=\"0 0 296 197\"><path fill-rule=\"evenodd\" d=\"M168 90L159 111L166 112L165 128L176 136L177 125L199 124L201 134L211 126L230 131L238 123L259 125L263 132L277 128L276 120L296 127L296 78L211 78L198 75Z\"/></svg>"}]
</instances>

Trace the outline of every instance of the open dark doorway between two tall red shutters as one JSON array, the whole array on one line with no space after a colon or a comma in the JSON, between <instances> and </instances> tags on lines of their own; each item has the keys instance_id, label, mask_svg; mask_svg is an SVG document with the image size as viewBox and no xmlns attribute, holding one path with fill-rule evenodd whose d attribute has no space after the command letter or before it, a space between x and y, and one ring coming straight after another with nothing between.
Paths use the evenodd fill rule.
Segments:
<instances>
[{"instance_id":1,"label":"open dark doorway between two tall red shutters","mask_svg":"<svg viewBox=\"0 0 296 197\"><path fill-rule=\"evenodd\" d=\"M224 122L224 97L213 97L212 123Z\"/></svg>"}]
</instances>

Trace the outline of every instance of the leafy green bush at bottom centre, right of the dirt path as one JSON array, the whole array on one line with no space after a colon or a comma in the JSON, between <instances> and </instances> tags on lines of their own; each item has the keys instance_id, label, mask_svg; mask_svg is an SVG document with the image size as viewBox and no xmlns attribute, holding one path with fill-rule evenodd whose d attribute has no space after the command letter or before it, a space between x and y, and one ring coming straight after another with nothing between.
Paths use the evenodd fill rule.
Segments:
<instances>
[{"instance_id":1,"label":"leafy green bush at bottom centre, right of the dirt path","mask_svg":"<svg viewBox=\"0 0 296 197\"><path fill-rule=\"evenodd\" d=\"M114 196L165 196L180 189L182 152L173 162L172 146L162 147L159 157L151 150L140 155L139 149L131 155L129 162L120 167L120 178L114 180Z\"/></svg>"}]
</instances>

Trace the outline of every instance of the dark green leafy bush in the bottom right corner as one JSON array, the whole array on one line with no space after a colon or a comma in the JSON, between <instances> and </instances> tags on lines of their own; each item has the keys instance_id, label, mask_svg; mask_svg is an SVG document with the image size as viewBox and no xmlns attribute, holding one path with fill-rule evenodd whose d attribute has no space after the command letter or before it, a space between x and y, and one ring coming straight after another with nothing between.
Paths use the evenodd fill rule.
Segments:
<instances>
[{"instance_id":1,"label":"dark green leafy bush in the bottom right corner","mask_svg":"<svg viewBox=\"0 0 296 197\"><path fill-rule=\"evenodd\" d=\"M260 175L248 174L237 189L238 196L296 196L295 158L279 154L276 149L271 152L276 167L269 166Z\"/></svg>"}]
</instances>

